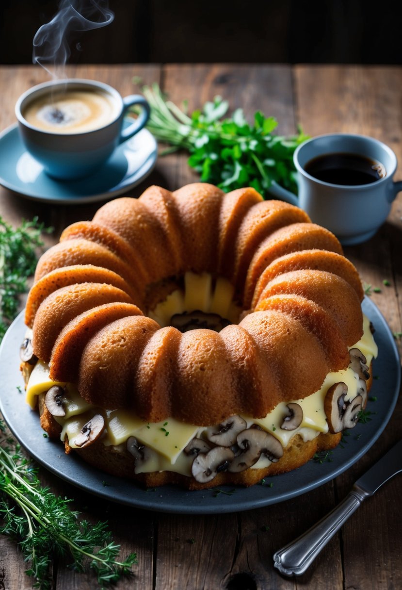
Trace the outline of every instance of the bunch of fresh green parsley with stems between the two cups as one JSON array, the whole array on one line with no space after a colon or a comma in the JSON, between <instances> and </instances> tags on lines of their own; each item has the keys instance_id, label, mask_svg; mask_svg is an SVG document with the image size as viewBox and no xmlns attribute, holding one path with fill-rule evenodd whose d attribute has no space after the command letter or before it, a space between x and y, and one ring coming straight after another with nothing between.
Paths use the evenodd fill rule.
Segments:
<instances>
[{"instance_id":1,"label":"bunch of fresh green parsley with stems between the two cups","mask_svg":"<svg viewBox=\"0 0 402 590\"><path fill-rule=\"evenodd\" d=\"M261 111L254 114L253 124L247 122L242 109L225 119L229 103L220 96L188 116L167 100L157 84L144 86L143 93L151 106L148 129L171 146L163 153L188 150L189 165L201 181L225 192L253 186L263 196L275 181L297 192L293 153L308 139L301 129L292 137L275 135L278 122Z\"/></svg>"}]
</instances>

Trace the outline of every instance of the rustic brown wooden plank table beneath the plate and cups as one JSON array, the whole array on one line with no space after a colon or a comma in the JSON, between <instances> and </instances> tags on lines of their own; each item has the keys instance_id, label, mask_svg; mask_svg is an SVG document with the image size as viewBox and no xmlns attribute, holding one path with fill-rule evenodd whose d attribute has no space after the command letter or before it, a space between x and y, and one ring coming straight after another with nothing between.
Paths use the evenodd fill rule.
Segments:
<instances>
[{"instance_id":1,"label":"rustic brown wooden plank table beneath the plate and cups","mask_svg":"<svg viewBox=\"0 0 402 590\"><path fill-rule=\"evenodd\" d=\"M402 162L402 68L297 65L113 65L69 68L68 76L95 78L112 84L123 95L139 91L133 76L143 83L157 81L172 100L188 99L189 109L220 94L230 108L243 107L274 115L280 133L294 133L300 123L309 135L327 132L363 133L393 148ZM19 94L47 80L39 67L2 67L0 129L14 123ZM1 155L0 155L1 157ZM402 168L396 174L402 178ZM155 183L176 189L197 176L186 155L157 161L156 169L130 191L139 196ZM47 245L58 241L61 230L81 219L91 219L97 204L75 207L41 205L0 189L0 214L12 224L38 215L55 228ZM393 204L387 222L370 241L345 248L365 283L381 288L372 293L375 304L393 332L401 332L401 215L402 195ZM383 280L390 281L384 286ZM401 339L398 338L398 345ZM374 447L342 476L318 489L275 506L218 516L180 516L127 509L81 493L45 470L45 481L56 493L77 500L77 509L96 519L107 518L123 553L137 552L134 577L119 589L229 590L319 588L342 590L402 588L401 479L387 483L345 524L305 575L284 578L272 566L272 553L294 539L327 513L350 489L355 479L398 440L402 430L402 403ZM90 508L88 508L90 506ZM31 587L26 564L6 537L0 537L0 573L4 587ZM94 588L91 576L54 565L55 588ZM1 586L0 584L0 587Z\"/></svg>"}]
</instances>

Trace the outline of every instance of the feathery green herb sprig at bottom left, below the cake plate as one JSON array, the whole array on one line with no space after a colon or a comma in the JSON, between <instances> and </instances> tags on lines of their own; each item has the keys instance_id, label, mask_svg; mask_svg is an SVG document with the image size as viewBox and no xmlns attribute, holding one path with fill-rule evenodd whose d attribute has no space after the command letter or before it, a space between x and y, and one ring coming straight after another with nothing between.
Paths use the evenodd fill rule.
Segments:
<instances>
[{"instance_id":1,"label":"feathery green herb sprig at bottom left, below the cake plate","mask_svg":"<svg viewBox=\"0 0 402 590\"><path fill-rule=\"evenodd\" d=\"M118 559L120 545L111 540L106 522L80 519L67 497L54 496L43 487L37 468L21 453L19 444L7 437L0 419L0 533L17 540L27 574L34 588L51 588L55 556L70 561L77 572L93 571L101 588L130 575L136 554Z\"/></svg>"}]
</instances>

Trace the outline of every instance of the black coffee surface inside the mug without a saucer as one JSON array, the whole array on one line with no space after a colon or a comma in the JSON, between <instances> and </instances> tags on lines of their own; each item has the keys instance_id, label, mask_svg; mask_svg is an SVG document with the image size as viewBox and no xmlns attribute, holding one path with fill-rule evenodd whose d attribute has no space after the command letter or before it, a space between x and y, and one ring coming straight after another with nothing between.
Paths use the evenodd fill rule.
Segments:
<instances>
[{"instance_id":1,"label":"black coffee surface inside the mug without a saucer","mask_svg":"<svg viewBox=\"0 0 402 590\"><path fill-rule=\"evenodd\" d=\"M328 153L313 158L305 171L319 181L338 185L364 185L385 176L380 162L355 153Z\"/></svg>"}]
</instances>

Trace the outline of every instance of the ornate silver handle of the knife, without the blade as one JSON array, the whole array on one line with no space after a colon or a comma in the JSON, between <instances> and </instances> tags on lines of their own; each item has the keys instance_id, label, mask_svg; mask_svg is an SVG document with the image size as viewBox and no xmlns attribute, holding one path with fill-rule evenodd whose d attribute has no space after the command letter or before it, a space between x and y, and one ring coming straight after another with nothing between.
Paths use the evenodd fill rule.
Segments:
<instances>
[{"instance_id":1,"label":"ornate silver handle of the knife, without the blade","mask_svg":"<svg viewBox=\"0 0 402 590\"><path fill-rule=\"evenodd\" d=\"M301 575L327 545L335 533L358 509L363 500L370 496L358 486L348 493L338 506L296 540L274 553L274 566L286 576Z\"/></svg>"}]
</instances>

